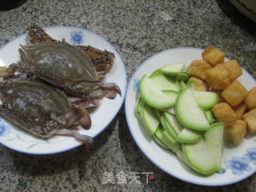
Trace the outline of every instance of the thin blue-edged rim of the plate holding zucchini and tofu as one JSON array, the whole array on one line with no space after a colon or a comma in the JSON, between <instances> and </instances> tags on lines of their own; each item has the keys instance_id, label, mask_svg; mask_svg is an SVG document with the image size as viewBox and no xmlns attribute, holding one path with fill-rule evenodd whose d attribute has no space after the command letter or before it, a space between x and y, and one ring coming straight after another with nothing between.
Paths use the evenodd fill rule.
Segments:
<instances>
[{"instance_id":1,"label":"thin blue-edged rim of the plate holding zucchini and tofu","mask_svg":"<svg viewBox=\"0 0 256 192\"><path fill-rule=\"evenodd\" d=\"M166 174L169 174L170 176L174 177L174 178L178 178L180 180L182 180L183 182L190 182L192 184L196 184L198 186L226 186L226 185L230 185L230 184L234 184L236 182L241 182L242 180L246 179L246 178L249 178L252 174L256 173L256 169L254 171L252 171L250 174L246 174L244 177L241 177L241 178L238 178L236 180L234 180L234 182L222 182L222 183L217 183L217 182L212 182L212 183L207 183L207 182L197 182L197 181L194 181L194 180L190 180L190 179L185 179L185 178L182 178L174 173L171 173L170 171L164 169L164 167L162 167L161 165L158 164L157 161L155 161L154 159L150 158L149 155L146 153L145 150L142 149L142 146L139 144L139 142L134 138L134 132L132 131L132 129L130 128L130 121L128 120L128 112L127 112L127 98L128 98L128 91L130 90L130 86L132 86L132 83L134 81L134 77L135 75L138 73L138 71L141 69L142 66L146 65L146 63L148 62L148 60L158 56L158 54L163 54L165 52L168 52L168 51L172 51L172 50L183 50L183 49L190 49L190 50L204 50L202 48L198 48L198 47L192 47L192 46L180 46L180 47L174 47L174 48L170 48L170 49L167 49L167 50L161 50L159 51L158 53L155 53L153 55L151 55L149 58L146 58L146 60L144 60L140 66L138 66L137 70L134 71L134 74L132 75L132 77L130 78L130 82L127 86L127 89L126 89L126 98L125 98L125 114L126 114L126 122L127 122L127 125L128 125L128 128L130 130L130 134L132 135L132 138L134 139L134 142L136 143L136 145L138 146L138 148L142 151L142 153L144 155L146 155L146 158L148 158L150 160L150 162L152 162L154 164L154 166L158 166L158 168L162 171L164 171ZM228 60L230 60L230 58L227 58ZM246 70L245 70L246 71ZM248 71L246 71L246 74L249 74L252 78L254 78ZM183 162L182 162L183 163Z\"/></svg>"}]
</instances>

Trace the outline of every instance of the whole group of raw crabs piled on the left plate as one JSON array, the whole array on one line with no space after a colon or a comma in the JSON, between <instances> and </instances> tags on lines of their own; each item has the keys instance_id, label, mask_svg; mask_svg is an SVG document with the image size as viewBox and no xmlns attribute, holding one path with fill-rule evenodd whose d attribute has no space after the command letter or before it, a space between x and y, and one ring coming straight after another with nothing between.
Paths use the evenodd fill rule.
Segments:
<instances>
[{"instance_id":1,"label":"whole group of raw crabs piled on the left plate","mask_svg":"<svg viewBox=\"0 0 256 192\"><path fill-rule=\"evenodd\" d=\"M121 95L115 83L102 83L114 54L58 42L36 25L28 27L28 35L31 45L18 50L21 60L0 68L0 77L5 77L0 114L41 138L64 134L91 142L75 128L90 128L87 107L97 106L102 97ZM66 94L79 99L70 102Z\"/></svg>"}]
</instances>

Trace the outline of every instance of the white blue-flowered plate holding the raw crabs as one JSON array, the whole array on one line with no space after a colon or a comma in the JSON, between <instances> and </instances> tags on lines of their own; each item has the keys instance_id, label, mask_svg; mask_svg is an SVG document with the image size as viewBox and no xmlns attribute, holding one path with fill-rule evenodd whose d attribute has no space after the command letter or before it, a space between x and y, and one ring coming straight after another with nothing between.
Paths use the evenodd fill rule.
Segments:
<instances>
[{"instance_id":1,"label":"white blue-flowered plate holding the raw crabs","mask_svg":"<svg viewBox=\"0 0 256 192\"><path fill-rule=\"evenodd\" d=\"M80 133L94 138L110 124L118 114L118 110L120 110L124 101L126 95L126 69L122 58L110 42L89 30L72 26L52 26L46 27L45 30L52 38L58 40L66 38L66 41L71 44L90 45L100 50L109 50L115 55L114 65L110 72L106 74L104 82L116 82L122 91L122 97L117 95L115 99L103 98L96 110L90 114L92 120L90 130L80 130ZM0 66L8 66L19 60L19 44L25 45L25 38L26 34L22 34L2 47L0 50ZM66 136L54 136L46 140L35 138L3 118L0 118L0 142L12 150L27 154L54 154L81 145L81 142Z\"/></svg>"}]
</instances>

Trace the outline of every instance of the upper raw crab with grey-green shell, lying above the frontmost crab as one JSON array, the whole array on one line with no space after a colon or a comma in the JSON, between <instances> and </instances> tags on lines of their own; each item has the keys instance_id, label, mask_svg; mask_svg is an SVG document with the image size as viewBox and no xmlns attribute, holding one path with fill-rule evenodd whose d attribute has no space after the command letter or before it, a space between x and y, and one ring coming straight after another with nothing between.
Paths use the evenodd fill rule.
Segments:
<instances>
[{"instance_id":1,"label":"upper raw crab with grey-green shell, lying above the frontmost crab","mask_svg":"<svg viewBox=\"0 0 256 192\"><path fill-rule=\"evenodd\" d=\"M19 49L21 61L1 67L0 76L18 71L62 88L66 94L83 98L115 98L121 90L115 83L103 84L90 58L76 47L62 42L40 42Z\"/></svg>"}]
</instances>

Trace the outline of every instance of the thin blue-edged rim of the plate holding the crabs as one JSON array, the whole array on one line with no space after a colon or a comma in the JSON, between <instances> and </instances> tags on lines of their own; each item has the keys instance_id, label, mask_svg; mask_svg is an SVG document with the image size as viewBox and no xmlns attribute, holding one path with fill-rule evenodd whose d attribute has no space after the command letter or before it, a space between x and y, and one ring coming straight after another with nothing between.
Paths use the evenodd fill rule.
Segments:
<instances>
[{"instance_id":1,"label":"thin blue-edged rim of the plate holding the crabs","mask_svg":"<svg viewBox=\"0 0 256 192\"><path fill-rule=\"evenodd\" d=\"M94 36L96 36L96 37L102 39L102 41L106 42L106 44L108 44L108 45L114 50L114 52L115 52L114 54L117 54L118 58L120 58L121 63L122 63L122 69L123 69L124 74L125 74L125 77L124 77L124 79L125 79L125 81L124 81L124 82L125 82L125 84L124 84L124 92L125 92L125 93L122 93L121 102L120 102L120 104L119 104L119 106L118 106L118 109L115 111L114 115L110 118L110 120L106 123L106 125L103 126L102 130L98 131L98 133L94 135L93 138L96 138L96 137L98 137L99 134L101 134L104 130L106 130L106 128L110 125L111 122L113 122L114 118L116 118L117 114L118 114L119 111L121 110L122 105L123 105L123 102L125 101L125 98L126 98L126 90L127 90L127 71L126 71L126 66L125 66L124 62L122 61L122 57L121 57L121 55L118 53L118 50L116 50L115 47L114 47L108 40L106 40L105 38L102 38L102 36L100 36L99 34L96 34L94 31L87 30L87 29L82 29L82 28L79 28L79 27L77 27L77 26L44 26L44 27L42 27L42 29L47 30L47 29L54 29L54 28L57 29L57 28L62 28L62 27L70 28L70 29L73 29L73 30L74 30L74 29L75 29L75 30L82 30L82 31L85 31L85 32L87 32L87 33L89 33L89 34L93 34ZM13 38L13 39L11 39L9 42L6 42L5 45L3 45L3 46L0 47L0 51L1 51L4 47L8 46L11 42L14 42L15 40L17 40L18 38L22 38L23 36L24 36L24 38L26 38L26 34L27 34L27 32L24 33L24 34L19 34L16 38ZM98 48L98 49L101 49L101 48ZM82 143L82 142L78 142L76 145L71 146L71 147L68 147L68 148L66 148L65 150L54 150L54 151L51 151L51 152L31 152L31 151L28 151L28 150L18 150L18 149L15 149L14 147L7 146L5 143L3 143L3 142L1 142L1 141L0 141L0 143L1 143L2 146L5 146L6 148L8 148L8 149L10 149L10 150L18 151L18 152L23 153L23 154L34 154L34 155L59 154L59 153L66 152L66 151L68 151L68 150L73 150L74 148L77 148L78 146L82 146L82 145L85 144L85 143Z\"/></svg>"}]
</instances>

